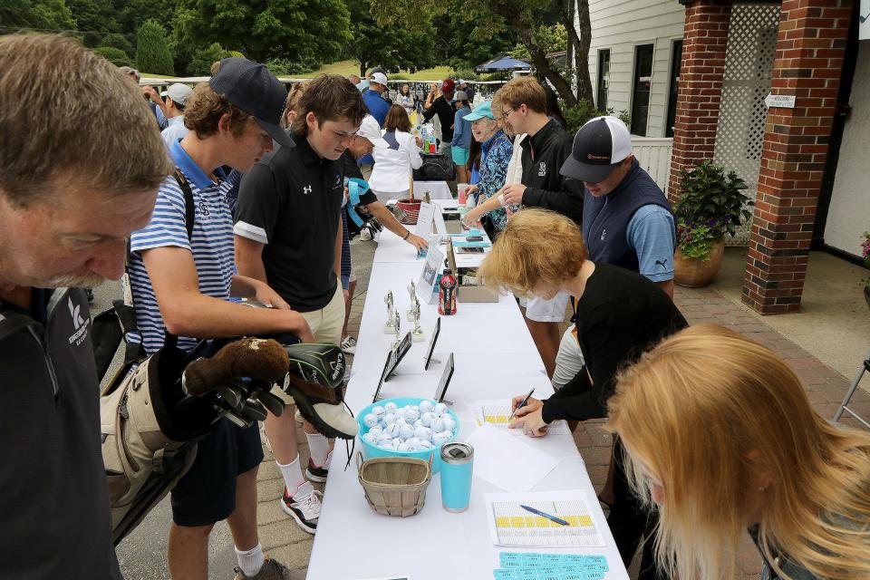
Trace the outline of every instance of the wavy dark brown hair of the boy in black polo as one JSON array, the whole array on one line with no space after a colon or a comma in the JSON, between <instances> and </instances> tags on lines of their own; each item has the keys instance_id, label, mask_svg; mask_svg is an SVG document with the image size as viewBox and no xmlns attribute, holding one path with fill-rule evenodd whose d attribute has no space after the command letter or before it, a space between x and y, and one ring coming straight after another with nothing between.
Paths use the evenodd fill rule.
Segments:
<instances>
[{"instance_id":1,"label":"wavy dark brown hair of the boy in black polo","mask_svg":"<svg viewBox=\"0 0 870 580\"><path fill-rule=\"evenodd\" d=\"M362 102L362 94L353 83L337 74L322 74L311 81L299 99L296 107L296 118L293 121L293 133L297 137L308 135L308 122L305 117L313 112L317 118L318 127L324 121L347 119L358 126L368 109Z\"/></svg>"}]
</instances>

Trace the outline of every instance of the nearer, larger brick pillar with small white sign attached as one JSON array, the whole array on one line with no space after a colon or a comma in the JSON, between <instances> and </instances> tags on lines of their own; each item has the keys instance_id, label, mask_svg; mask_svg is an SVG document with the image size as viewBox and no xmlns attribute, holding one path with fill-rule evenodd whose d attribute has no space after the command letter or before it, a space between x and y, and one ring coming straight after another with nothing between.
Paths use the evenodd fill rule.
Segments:
<instances>
[{"instance_id":1,"label":"nearer, larger brick pillar with small white sign attached","mask_svg":"<svg viewBox=\"0 0 870 580\"><path fill-rule=\"evenodd\" d=\"M771 92L794 109L768 111L743 302L797 312L840 84L852 0L785 0Z\"/></svg>"}]
</instances>

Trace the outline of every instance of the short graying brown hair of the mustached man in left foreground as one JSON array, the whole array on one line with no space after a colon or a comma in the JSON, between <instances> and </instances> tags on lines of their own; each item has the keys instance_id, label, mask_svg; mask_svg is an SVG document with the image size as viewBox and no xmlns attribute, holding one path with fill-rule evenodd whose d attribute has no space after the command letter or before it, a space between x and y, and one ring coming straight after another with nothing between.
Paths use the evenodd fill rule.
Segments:
<instances>
[{"instance_id":1,"label":"short graying brown hair of the mustached man in left foreground","mask_svg":"<svg viewBox=\"0 0 870 580\"><path fill-rule=\"evenodd\" d=\"M172 171L139 88L69 39L0 36L0 102L0 195L18 207L50 197L59 179L126 194Z\"/></svg>"}]
</instances>

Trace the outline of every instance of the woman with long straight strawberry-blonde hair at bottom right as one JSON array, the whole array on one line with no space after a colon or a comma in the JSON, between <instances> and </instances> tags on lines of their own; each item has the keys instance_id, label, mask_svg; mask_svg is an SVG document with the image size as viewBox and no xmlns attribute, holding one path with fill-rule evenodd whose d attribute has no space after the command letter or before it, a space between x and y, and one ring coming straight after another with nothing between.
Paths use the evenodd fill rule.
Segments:
<instances>
[{"instance_id":1,"label":"woman with long straight strawberry-blonde hair at bottom right","mask_svg":"<svg viewBox=\"0 0 870 580\"><path fill-rule=\"evenodd\" d=\"M870 433L817 415L767 348L713 324L683 330L623 372L609 407L672 574L739 577L749 529L762 580L870 578Z\"/></svg>"}]
</instances>

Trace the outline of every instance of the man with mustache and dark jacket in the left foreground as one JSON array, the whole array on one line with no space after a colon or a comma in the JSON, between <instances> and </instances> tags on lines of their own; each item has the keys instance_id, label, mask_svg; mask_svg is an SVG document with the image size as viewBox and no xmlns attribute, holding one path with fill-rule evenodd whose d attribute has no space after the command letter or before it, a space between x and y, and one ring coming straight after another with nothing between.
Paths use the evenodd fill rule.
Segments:
<instances>
[{"instance_id":1,"label":"man with mustache and dark jacket in the left foreground","mask_svg":"<svg viewBox=\"0 0 870 580\"><path fill-rule=\"evenodd\" d=\"M82 100L82 86L100 92ZM0 37L0 102L3 575L114 580L80 288L121 277L172 166L139 90L72 40Z\"/></svg>"}]
</instances>

